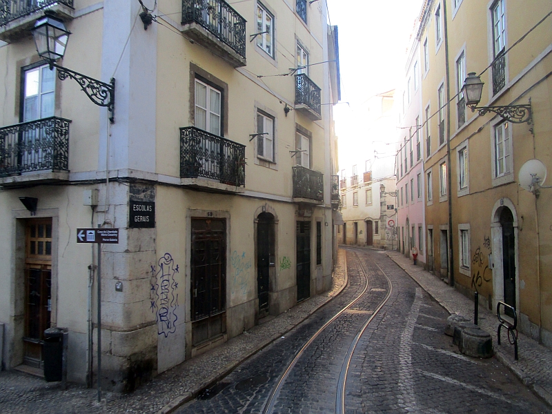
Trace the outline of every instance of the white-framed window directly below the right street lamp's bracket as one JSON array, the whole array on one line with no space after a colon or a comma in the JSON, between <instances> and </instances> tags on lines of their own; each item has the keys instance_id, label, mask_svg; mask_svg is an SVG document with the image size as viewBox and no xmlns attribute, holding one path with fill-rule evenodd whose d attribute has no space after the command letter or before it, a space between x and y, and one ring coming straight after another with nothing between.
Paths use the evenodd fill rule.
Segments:
<instances>
[{"instance_id":1,"label":"white-framed window directly below the right street lamp's bracket","mask_svg":"<svg viewBox=\"0 0 552 414\"><path fill-rule=\"evenodd\" d=\"M502 156L498 148L497 132L502 132ZM509 122L502 122L502 119L496 121L491 128L491 153L492 153L492 177L493 186L499 186L513 181L513 137L512 125ZM502 159L502 168L500 170L500 160Z\"/></svg>"}]
</instances>

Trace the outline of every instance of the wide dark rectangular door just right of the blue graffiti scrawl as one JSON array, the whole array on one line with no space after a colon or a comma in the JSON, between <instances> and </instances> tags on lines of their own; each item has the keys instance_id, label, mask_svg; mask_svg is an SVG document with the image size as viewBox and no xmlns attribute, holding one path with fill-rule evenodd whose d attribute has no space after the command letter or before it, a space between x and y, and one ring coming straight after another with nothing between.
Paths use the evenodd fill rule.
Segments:
<instances>
[{"instance_id":1,"label":"wide dark rectangular door just right of the blue graffiti scrawl","mask_svg":"<svg viewBox=\"0 0 552 414\"><path fill-rule=\"evenodd\" d=\"M226 332L226 220L192 219L192 344Z\"/></svg>"}]
</instances>

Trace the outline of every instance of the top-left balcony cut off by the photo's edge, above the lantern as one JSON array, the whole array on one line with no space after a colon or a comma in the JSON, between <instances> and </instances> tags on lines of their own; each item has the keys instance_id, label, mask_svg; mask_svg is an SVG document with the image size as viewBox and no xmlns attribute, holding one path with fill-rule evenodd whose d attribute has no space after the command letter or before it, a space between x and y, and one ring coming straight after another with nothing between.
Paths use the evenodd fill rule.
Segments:
<instances>
[{"instance_id":1,"label":"top-left balcony cut off by the photo's edge, above the lantern","mask_svg":"<svg viewBox=\"0 0 552 414\"><path fill-rule=\"evenodd\" d=\"M0 40L10 43L27 37L45 9L62 20L71 20L75 14L73 0L0 0Z\"/></svg>"}]
</instances>

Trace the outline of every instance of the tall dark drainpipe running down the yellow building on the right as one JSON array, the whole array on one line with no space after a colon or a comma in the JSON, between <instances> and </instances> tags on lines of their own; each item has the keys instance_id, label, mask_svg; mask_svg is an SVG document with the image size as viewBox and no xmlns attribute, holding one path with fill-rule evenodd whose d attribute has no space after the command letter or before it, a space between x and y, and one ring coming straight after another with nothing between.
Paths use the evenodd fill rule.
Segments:
<instances>
[{"instance_id":1,"label":"tall dark drainpipe running down the yellow building on the right","mask_svg":"<svg viewBox=\"0 0 552 414\"><path fill-rule=\"evenodd\" d=\"M453 251L453 188L451 177L451 82L449 68L449 26L446 21L446 0L443 1L444 26L444 65L446 82L446 181L448 188L447 201L449 204L449 285L454 286L454 251Z\"/></svg>"}]
</instances>

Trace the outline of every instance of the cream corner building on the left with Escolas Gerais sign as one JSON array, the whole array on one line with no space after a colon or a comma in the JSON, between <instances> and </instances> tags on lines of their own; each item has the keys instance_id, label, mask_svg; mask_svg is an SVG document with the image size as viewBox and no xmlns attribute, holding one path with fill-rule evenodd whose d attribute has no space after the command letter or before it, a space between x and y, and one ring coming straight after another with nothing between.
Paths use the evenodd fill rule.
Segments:
<instances>
[{"instance_id":1,"label":"cream corner building on the left with Escolas Gerais sign","mask_svg":"<svg viewBox=\"0 0 552 414\"><path fill-rule=\"evenodd\" d=\"M331 286L339 54L326 2L143 3L0 10L6 368L41 368L43 331L59 326L69 380L92 384L101 323L102 383L132 389ZM66 69L37 55L45 18L70 31ZM99 255L81 243L98 227L118 229Z\"/></svg>"}]
</instances>

